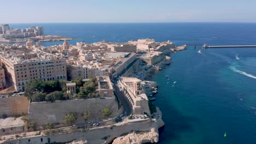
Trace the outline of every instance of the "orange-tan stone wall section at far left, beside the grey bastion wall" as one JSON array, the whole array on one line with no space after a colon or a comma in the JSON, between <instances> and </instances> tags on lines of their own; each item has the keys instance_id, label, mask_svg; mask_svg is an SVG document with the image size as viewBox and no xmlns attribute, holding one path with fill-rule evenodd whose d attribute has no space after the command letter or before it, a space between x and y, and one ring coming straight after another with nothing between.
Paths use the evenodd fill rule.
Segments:
<instances>
[{"instance_id":1,"label":"orange-tan stone wall section at far left, beside the grey bastion wall","mask_svg":"<svg viewBox=\"0 0 256 144\"><path fill-rule=\"evenodd\" d=\"M7 116L26 114L28 112L28 104L29 101L24 96L0 98L0 117L3 114Z\"/></svg>"}]
</instances>

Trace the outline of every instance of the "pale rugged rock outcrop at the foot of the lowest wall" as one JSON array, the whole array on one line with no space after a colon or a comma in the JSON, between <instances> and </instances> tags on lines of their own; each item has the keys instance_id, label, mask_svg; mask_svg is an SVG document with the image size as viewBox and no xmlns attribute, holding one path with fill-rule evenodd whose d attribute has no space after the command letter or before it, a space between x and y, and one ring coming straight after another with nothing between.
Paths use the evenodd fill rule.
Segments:
<instances>
[{"instance_id":1,"label":"pale rugged rock outcrop at the foot of the lowest wall","mask_svg":"<svg viewBox=\"0 0 256 144\"><path fill-rule=\"evenodd\" d=\"M150 131L140 131L140 132L133 132L131 134L118 137L113 141L113 144L135 144L135 143L153 143L158 142L159 140L159 134L158 129L151 128Z\"/></svg>"}]
</instances>

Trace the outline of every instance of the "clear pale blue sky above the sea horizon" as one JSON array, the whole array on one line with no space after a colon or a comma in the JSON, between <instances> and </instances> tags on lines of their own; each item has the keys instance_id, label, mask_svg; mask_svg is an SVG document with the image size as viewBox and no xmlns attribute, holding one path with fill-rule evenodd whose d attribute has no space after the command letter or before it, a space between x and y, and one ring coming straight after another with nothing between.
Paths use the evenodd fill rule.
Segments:
<instances>
[{"instance_id":1,"label":"clear pale blue sky above the sea horizon","mask_svg":"<svg viewBox=\"0 0 256 144\"><path fill-rule=\"evenodd\" d=\"M0 23L256 22L256 0L0 0Z\"/></svg>"}]
</instances>

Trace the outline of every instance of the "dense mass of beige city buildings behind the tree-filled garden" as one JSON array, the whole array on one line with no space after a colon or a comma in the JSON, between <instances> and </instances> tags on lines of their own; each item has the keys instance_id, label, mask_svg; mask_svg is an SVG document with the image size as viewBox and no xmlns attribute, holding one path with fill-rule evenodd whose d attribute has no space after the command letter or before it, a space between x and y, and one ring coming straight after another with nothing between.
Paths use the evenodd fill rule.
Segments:
<instances>
[{"instance_id":1,"label":"dense mass of beige city buildings behind the tree-filled garden","mask_svg":"<svg viewBox=\"0 0 256 144\"><path fill-rule=\"evenodd\" d=\"M9 31L8 25L1 28L4 33ZM137 56L138 47L146 53ZM40 41L34 44L28 39L26 45L0 45L5 74L10 77L10 85L13 84L18 91L24 91L26 83L34 79L70 81L78 77L115 77L124 73L138 58L147 62L148 68L153 65L159 69L159 65L166 62L165 50L172 47L170 41L156 43L154 39L139 39L128 43L108 43L103 40L93 44L80 42L77 45L68 44L64 40L62 45L49 47L40 45Z\"/></svg>"}]
</instances>

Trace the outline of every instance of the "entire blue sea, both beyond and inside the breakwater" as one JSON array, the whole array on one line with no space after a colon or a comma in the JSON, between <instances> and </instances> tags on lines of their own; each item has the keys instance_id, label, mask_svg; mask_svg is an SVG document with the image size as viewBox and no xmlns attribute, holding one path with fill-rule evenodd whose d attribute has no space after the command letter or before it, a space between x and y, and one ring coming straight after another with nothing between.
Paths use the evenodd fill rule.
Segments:
<instances>
[{"instance_id":1,"label":"entire blue sea, both beyond and inside the breakwater","mask_svg":"<svg viewBox=\"0 0 256 144\"><path fill-rule=\"evenodd\" d=\"M77 41L94 43L103 39L124 42L150 38L171 40L176 45L256 45L256 23L10 25L15 28L28 26L44 26L45 34L77 38L69 41L71 44ZM162 111L165 122L165 127L160 129L159 143L255 144L256 48L202 50L197 46L194 50L192 46L172 53L171 57L172 64L153 76L153 81L159 84L154 104ZM165 78L166 75L170 80Z\"/></svg>"}]
</instances>

